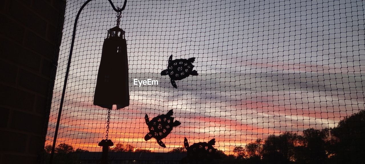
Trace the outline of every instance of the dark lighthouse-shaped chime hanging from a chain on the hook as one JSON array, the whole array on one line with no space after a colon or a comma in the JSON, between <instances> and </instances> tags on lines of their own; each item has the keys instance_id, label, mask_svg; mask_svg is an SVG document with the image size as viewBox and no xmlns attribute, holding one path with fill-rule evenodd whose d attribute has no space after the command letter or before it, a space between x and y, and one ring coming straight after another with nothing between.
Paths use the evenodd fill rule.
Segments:
<instances>
[{"instance_id":1,"label":"dark lighthouse-shaped chime hanging from a chain on the hook","mask_svg":"<svg viewBox=\"0 0 365 164\"><path fill-rule=\"evenodd\" d=\"M129 105L127 40L119 28L120 17L118 13L116 26L108 30L104 40L94 93L94 105L108 109Z\"/></svg>"}]
</instances>

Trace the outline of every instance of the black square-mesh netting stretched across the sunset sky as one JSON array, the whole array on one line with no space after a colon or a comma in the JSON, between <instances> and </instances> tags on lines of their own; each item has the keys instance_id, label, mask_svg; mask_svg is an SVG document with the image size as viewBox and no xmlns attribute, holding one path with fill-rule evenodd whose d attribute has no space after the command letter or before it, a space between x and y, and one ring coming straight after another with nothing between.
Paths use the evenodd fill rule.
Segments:
<instances>
[{"instance_id":1,"label":"black square-mesh netting stretched across the sunset sky","mask_svg":"<svg viewBox=\"0 0 365 164\"><path fill-rule=\"evenodd\" d=\"M73 23L84 2L67 1L46 148L53 142ZM137 150L183 154L184 137L190 144L215 138L214 148L234 158L243 148L248 159L261 155L249 155L246 145L265 145L272 134L300 138L309 128L338 126L365 108L364 8L362 0L128 1L120 27L126 31L130 105L111 111L111 149L120 143L131 158L119 162L138 162L132 158ZM107 109L93 105L93 93L103 41L115 20L107 0L91 1L81 12L60 118L56 146L78 149L89 162L98 160L91 153L101 152L97 144L105 136ZM170 55L195 57L199 75L173 88L160 74ZM134 85L134 79L158 85ZM162 140L166 148L145 141L145 114L151 119L171 109L181 125ZM170 158L181 159L164 156Z\"/></svg>"}]
</instances>

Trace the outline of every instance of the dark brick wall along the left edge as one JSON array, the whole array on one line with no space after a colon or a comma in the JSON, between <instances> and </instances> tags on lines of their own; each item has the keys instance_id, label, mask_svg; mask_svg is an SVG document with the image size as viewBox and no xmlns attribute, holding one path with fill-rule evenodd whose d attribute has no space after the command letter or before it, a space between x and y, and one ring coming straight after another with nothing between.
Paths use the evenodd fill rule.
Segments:
<instances>
[{"instance_id":1,"label":"dark brick wall along the left edge","mask_svg":"<svg viewBox=\"0 0 365 164\"><path fill-rule=\"evenodd\" d=\"M0 0L0 163L39 163L64 21L62 0Z\"/></svg>"}]
</instances>

